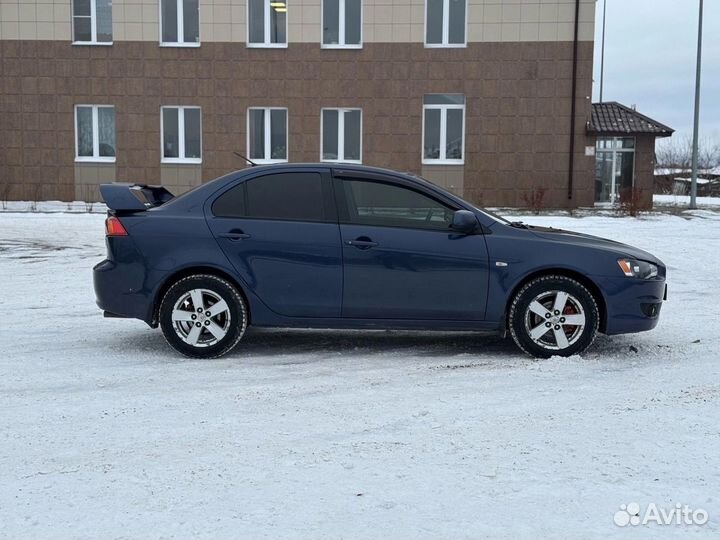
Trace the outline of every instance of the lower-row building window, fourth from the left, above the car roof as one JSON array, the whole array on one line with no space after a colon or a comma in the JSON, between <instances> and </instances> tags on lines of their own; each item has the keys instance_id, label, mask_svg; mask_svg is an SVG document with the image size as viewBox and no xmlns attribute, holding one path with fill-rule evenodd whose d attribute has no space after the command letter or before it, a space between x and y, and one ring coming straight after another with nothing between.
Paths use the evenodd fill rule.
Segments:
<instances>
[{"instance_id":1,"label":"lower-row building window, fourth from the left, above the car roof","mask_svg":"<svg viewBox=\"0 0 720 540\"><path fill-rule=\"evenodd\" d=\"M360 163L362 160L362 111L323 109L320 136L322 161Z\"/></svg>"}]
</instances>

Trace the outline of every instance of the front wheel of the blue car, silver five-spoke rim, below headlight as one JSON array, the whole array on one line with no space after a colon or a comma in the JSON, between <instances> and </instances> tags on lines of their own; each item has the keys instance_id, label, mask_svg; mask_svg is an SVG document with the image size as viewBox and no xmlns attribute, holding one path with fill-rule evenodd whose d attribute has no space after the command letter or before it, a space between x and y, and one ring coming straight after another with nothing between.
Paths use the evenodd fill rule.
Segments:
<instances>
[{"instance_id":1,"label":"front wheel of the blue car, silver five-spoke rim, below headlight","mask_svg":"<svg viewBox=\"0 0 720 540\"><path fill-rule=\"evenodd\" d=\"M566 276L542 276L517 292L508 325L518 347L531 356L549 358L585 351L599 321L597 302L584 285Z\"/></svg>"}]
</instances>

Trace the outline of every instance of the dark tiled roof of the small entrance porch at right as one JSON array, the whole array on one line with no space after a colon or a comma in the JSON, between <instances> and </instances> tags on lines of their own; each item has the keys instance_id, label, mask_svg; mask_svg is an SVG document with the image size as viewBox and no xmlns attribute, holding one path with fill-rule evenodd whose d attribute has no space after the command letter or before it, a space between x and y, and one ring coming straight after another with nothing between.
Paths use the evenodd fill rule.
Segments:
<instances>
[{"instance_id":1,"label":"dark tiled roof of the small entrance porch at right","mask_svg":"<svg viewBox=\"0 0 720 540\"><path fill-rule=\"evenodd\" d=\"M669 137L675 130L640 114L617 101L592 104L592 119L588 122L588 133L602 135L649 134Z\"/></svg>"}]
</instances>

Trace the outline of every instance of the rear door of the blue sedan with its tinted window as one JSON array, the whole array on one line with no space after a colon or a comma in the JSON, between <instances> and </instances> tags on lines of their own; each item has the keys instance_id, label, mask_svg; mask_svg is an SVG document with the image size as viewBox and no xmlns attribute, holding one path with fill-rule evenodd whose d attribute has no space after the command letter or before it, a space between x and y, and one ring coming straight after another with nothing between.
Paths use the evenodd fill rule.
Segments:
<instances>
[{"instance_id":1,"label":"rear door of the blue sedan with its tinted window","mask_svg":"<svg viewBox=\"0 0 720 540\"><path fill-rule=\"evenodd\" d=\"M259 173L212 202L208 225L271 310L340 316L342 251L329 169Z\"/></svg>"}]
</instances>

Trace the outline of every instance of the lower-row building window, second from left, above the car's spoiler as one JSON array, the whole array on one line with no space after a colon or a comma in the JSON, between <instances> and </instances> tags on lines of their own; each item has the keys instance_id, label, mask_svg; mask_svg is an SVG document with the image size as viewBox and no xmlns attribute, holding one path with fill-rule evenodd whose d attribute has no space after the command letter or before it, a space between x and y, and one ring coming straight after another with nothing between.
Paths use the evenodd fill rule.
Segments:
<instances>
[{"instance_id":1,"label":"lower-row building window, second from left, above the car's spoiler","mask_svg":"<svg viewBox=\"0 0 720 540\"><path fill-rule=\"evenodd\" d=\"M163 163L202 162L202 120L200 107L162 107Z\"/></svg>"}]
</instances>

